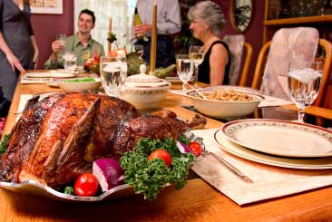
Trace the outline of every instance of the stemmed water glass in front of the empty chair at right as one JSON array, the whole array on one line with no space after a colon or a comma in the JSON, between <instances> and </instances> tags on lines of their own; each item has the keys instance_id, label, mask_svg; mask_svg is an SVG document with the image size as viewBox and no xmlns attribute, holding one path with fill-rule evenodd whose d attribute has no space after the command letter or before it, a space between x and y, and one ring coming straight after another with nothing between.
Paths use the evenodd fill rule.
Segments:
<instances>
[{"instance_id":1,"label":"stemmed water glass in front of the empty chair at right","mask_svg":"<svg viewBox=\"0 0 332 222\"><path fill-rule=\"evenodd\" d=\"M323 74L323 63L290 63L288 89L298 107L298 121L304 122L304 111L317 98Z\"/></svg>"}]
</instances>

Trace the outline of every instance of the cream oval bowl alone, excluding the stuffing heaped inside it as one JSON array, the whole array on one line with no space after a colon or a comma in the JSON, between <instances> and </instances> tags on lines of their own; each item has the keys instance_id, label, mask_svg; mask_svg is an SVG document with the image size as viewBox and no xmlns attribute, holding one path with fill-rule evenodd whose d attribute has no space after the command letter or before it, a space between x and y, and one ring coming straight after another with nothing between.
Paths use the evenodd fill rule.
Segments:
<instances>
[{"instance_id":1,"label":"cream oval bowl alone, excluding the stuffing heaped inside it","mask_svg":"<svg viewBox=\"0 0 332 222\"><path fill-rule=\"evenodd\" d=\"M214 90L203 89L198 90L200 93L210 93ZM238 92L234 90L235 92ZM242 91L239 91L242 92ZM197 95L197 92L190 91L187 95L190 97L194 107L203 113L204 115L213 118L230 118L230 117L241 117L252 113L259 102L262 101L263 97L259 94L242 92L253 97L252 101L217 101L217 100L205 100Z\"/></svg>"}]
</instances>

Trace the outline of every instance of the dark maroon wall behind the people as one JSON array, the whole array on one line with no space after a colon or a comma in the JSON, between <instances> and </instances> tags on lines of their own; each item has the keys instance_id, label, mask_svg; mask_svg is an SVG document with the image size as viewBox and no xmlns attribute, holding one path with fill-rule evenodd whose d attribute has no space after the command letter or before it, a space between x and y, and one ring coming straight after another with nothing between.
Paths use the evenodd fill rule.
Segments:
<instances>
[{"instance_id":1,"label":"dark maroon wall behind the people","mask_svg":"<svg viewBox=\"0 0 332 222\"><path fill-rule=\"evenodd\" d=\"M223 34L237 34L233 30L229 20L229 3L230 0L215 0L222 8L226 27ZM249 85L253 72L255 71L255 63L262 46L263 36L263 16L264 16L264 1L253 1L253 17L249 24L249 28L244 33L246 41L250 43L254 49L252 63L249 69ZM38 68L42 69L44 61L50 56L51 43L54 41L56 34L73 34L73 0L63 1L63 14L33 14L32 22L34 26L34 33L37 38L37 43L40 50L40 58Z\"/></svg>"}]
</instances>

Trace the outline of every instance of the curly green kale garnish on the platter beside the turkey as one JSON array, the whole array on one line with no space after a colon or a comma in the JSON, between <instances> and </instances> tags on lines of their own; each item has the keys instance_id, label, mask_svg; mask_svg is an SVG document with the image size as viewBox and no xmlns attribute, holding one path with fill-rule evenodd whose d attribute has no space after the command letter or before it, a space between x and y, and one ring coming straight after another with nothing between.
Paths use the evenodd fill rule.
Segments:
<instances>
[{"instance_id":1,"label":"curly green kale garnish on the platter beside the turkey","mask_svg":"<svg viewBox=\"0 0 332 222\"><path fill-rule=\"evenodd\" d=\"M182 136L178 139L188 145L189 140ZM148 157L155 150L166 150L171 155L171 167L168 168L162 159ZM181 153L176 146L176 140L141 139L136 150L122 155L120 164L124 170L124 182L132 185L136 193L142 193L144 198L154 199L161 188L167 184L175 184L182 188L186 183L190 163L195 161L192 153Z\"/></svg>"}]
</instances>

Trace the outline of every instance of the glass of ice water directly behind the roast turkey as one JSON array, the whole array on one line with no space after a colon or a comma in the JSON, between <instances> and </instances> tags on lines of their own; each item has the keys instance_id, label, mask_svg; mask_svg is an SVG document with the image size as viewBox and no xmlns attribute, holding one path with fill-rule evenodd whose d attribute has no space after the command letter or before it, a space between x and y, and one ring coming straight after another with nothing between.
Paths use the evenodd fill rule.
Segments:
<instances>
[{"instance_id":1,"label":"glass of ice water directly behind the roast turkey","mask_svg":"<svg viewBox=\"0 0 332 222\"><path fill-rule=\"evenodd\" d=\"M102 56L100 60L100 75L103 89L114 97L120 96L122 85L126 79L123 72L122 58L113 56Z\"/></svg>"}]
</instances>

